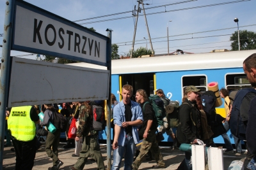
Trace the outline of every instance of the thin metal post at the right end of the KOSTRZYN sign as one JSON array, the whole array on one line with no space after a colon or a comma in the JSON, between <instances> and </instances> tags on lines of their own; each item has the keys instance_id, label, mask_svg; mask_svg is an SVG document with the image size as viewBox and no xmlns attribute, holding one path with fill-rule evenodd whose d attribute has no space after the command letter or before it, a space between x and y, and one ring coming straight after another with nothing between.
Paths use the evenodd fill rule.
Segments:
<instances>
[{"instance_id":1,"label":"thin metal post at the right end of the KOSTRZYN sign","mask_svg":"<svg viewBox=\"0 0 256 170\"><path fill-rule=\"evenodd\" d=\"M112 29L107 29L108 31L108 46L107 46L107 64L108 64L108 70L109 70L109 89L108 89L108 111L107 111L107 168L108 170L111 169L111 37L112 37Z\"/></svg>"}]
</instances>

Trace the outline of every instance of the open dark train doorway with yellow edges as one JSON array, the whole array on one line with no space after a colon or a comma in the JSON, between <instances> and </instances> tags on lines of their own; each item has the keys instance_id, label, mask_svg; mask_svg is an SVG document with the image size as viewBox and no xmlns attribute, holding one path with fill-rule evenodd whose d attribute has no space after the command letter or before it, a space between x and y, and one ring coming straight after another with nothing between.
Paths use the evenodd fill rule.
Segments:
<instances>
[{"instance_id":1,"label":"open dark train doorway with yellow edges","mask_svg":"<svg viewBox=\"0 0 256 170\"><path fill-rule=\"evenodd\" d=\"M142 74L122 74L120 76L120 90L123 85L131 85L133 87L133 96L135 97L136 90L144 89L147 95L154 95L155 81L154 73L142 73Z\"/></svg>"}]
</instances>

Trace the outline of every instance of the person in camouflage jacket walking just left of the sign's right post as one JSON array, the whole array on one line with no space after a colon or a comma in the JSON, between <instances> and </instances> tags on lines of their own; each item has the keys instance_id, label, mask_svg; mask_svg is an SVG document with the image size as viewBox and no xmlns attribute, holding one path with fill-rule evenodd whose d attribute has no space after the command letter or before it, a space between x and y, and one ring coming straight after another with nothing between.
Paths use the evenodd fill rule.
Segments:
<instances>
[{"instance_id":1,"label":"person in camouflage jacket walking just left of the sign's right post","mask_svg":"<svg viewBox=\"0 0 256 170\"><path fill-rule=\"evenodd\" d=\"M71 170L83 170L86 160L92 156L96 160L99 170L104 170L104 161L97 140L98 132L92 129L92 110L88 102L79 102L79 127L77 128L76 141L83 136L82 150L74 167Z\"/></svg>"}]
</instances>

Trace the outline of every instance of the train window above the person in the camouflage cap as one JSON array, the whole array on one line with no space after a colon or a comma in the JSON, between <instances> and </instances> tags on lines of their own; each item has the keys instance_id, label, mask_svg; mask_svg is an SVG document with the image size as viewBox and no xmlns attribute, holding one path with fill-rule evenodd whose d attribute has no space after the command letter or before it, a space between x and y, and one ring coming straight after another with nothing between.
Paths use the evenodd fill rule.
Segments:
<instances>
[{"instance_id":1,"label":"train window above the person in the camouflage cap","mask_svg":"<svg viewBox=\"0 0 256 170\"><path fill-rule=\"evenodd\" d=\"M182 96L187 86L194 85L196 88L200 89L201 92L207 90L207 80L205 75L188 75L182 77Z\"/></svg>"}]
</instances>

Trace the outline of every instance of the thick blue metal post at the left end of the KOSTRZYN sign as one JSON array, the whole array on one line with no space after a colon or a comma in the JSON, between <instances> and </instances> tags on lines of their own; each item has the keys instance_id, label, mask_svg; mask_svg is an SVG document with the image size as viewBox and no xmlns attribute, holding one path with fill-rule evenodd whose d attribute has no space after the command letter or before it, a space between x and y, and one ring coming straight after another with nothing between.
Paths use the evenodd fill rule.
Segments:
<instances>
[{"instance_id":1,"label":"thick blue metal post at the left end of the KOSTRZYN sign","mask_svg":"<svg viewBox=\"0 0 256 170\"><path fill-rule=\"evenodd\" d=\"M1 59L1 88L0 88L0 170L3 169L3 150L4 150L4 131L5 131L5 112L8 99L9 72L10 72L10 53L12 46L13 13L15 0L6 1L4 18L4 36Z\"/></svg>"}]
</instances>

